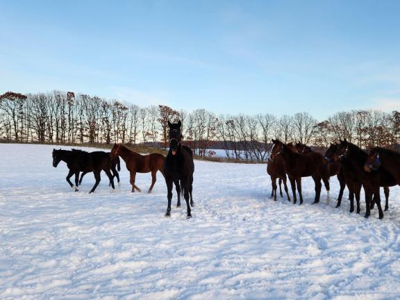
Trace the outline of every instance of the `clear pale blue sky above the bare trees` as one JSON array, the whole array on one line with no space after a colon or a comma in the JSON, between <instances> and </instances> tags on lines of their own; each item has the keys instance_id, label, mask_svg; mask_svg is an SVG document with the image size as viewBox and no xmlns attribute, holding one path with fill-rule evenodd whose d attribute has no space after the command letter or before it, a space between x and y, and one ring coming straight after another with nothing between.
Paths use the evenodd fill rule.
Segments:
<instances>
[{"instance_id":1,"label":"clear pale blue sky above the bare trees","mask_svg":"<svg viewBox=\"0 0 400 300\"><path fill-rule=\"evenodd\" d=\"M0 1L0 93L217 114L400 109L400 1Z\"/></svg>"}]
</instances>

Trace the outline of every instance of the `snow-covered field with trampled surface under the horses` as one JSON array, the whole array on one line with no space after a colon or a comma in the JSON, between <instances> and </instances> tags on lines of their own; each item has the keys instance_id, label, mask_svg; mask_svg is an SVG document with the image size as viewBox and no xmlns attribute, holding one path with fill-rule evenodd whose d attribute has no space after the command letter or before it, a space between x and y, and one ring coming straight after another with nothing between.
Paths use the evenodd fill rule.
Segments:
<instances>
[{"instance_id":1,"label":"snow-covered field with trampled surface under the horses","mask_svg":"<svg viewBox=\"0 0 400 300\"><path fill-rule=\"evenodd\" d=\"M266 165L195 162L192 219L167 208L163 177L131 194L87 174L79 192L53 147L0 144L0 299L395 299L400 297L400 189L380 221L274 202ZM63 147L63 149L69 149ZM150 174L137 185L149 188ZM175 191L174 191L175 192ZM383 194L383 193L382 193ZM176 203L174 194L173 203ZM183 201L184 203L184 201Z\"/></svg>"}]
</instances>

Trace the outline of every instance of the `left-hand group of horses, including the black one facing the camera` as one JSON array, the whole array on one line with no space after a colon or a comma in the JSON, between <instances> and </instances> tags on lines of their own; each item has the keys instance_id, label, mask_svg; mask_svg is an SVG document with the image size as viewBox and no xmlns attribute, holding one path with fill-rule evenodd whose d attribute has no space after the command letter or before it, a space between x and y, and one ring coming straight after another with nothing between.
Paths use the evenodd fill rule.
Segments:
<instances>
[{"instance_id":1,"label":"left-hand group of horses, including the black one facing the camera","mask_svg":"<svg viewBox=\"0 0 400 300\"><path fill-rule=\"evenodd\" d=\"M141 155L136 153L123 144L114 144L110 152L93 151L87 152L77 149L72 150L56 150L53 149L53 167L57 167L58 163L63 160L69 169L67 175L67 183L78 192L78 186L82 183L82 178L88 172L93 172L96 182L90 193L96 190L97 185L101 181L100 173L104 171L108 176L110 185L115 189L114 177L117 178L119 184L119 174L121 170L119 157L124 160L126 169L130 173L130 183L132 185L131 192L141 192L140 188L135 185L136 173L149 173L151 172L151 185L149 193L153 190L156 183L156 173L160 171L167 183L167 199L168 206L166 217L171 215L171 201L172 201L172 188L175 184L178 201L176 206L181 206L181 194L186 201L187 217L192 217L190 206L194 206L192 190L193 190L193 173L194 162L193 153L190 147L182 144L181 121L172 124L168 122L169 126L169 151L167 156L159 153L151 153L148 155ZM81 173L82 172L82 173ZM79 178L81 174L81 178ZM75 185L69 178L75 175Z\"/></svg>"}]
</instances>

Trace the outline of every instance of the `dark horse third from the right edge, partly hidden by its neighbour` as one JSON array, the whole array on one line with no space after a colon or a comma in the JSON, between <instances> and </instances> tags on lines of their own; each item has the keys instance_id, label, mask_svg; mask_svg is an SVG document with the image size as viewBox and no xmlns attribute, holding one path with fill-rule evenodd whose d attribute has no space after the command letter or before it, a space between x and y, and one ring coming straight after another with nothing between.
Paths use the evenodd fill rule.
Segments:
<instances>
[{"instance_id":1,"label":"dark horse third from the right edge, partly hidden by its neighbour","mask_svg":"<svg viewBox=\"0 0 400 300\"><path fill-rule=\"evenodd\" d=\"M340 158L337 162L333 161L333 156L335 155L336 150L338 149L338 144L331 144L331 146L326 150L324 158L329 165L340 164L340 173L343 176L343 181L339 181L340 183L340 192L338 197L338 203L336 204L336 208L340 207L342 203L342 195L345 186L347 185L347 189L349 190L349 199L350 199L350 213L354 211L354 197L356 197L357 203L357 213L360 213L360 192L361 192L361 183L358 180L358 175L356 169L354 169L353 165L351 165L350 161L347 158ZM339 179L338 174L338 179Z\"/></svg>"}]
</instances>

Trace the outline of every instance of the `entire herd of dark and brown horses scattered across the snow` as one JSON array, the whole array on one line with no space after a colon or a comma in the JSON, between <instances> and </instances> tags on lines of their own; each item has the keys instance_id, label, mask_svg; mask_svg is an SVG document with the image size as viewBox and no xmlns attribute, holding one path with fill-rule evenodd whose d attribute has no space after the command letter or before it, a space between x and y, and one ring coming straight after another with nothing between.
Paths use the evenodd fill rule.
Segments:
<instances>
[{"instance_id":1,"label":"entire herd of dark and brown horses scattered across the snow","mask_svg":"<svg viewBox=\"0 0 400 300\"><path fill-rule=\"evenodd\" d=\"M194 206L192 189L194 162L193 153L190 147L182 144L181 121L169 126L169 151L167 156L159 153L141 155L135 153L123 144L114 144L113 149L108 152L94 151L86 152L72 149L56 150L53 149L53 167L63 160L67 163L69 173L67 182L78 191L78 186L82 183L82 178L88 172L93 172L96 182L90 192L96 190L100 183L100 172L103 170L114 189L114 177L119 183L120 161L119 157L126 163L126 169L130 173L131 192L140 188L135 185L136 173L151 172L151 185L149 193L156 183L156 173L160 171L167 184L167 211L165 216L171 215L172 188L175 184L178 201L176 206L181 206L181 195L186 201L187 216L191 215L191 206ZM300 204L303 203L301 193L301 178L311 176L315 183L314 203L319 202L321 196L322 183L324 183L328 193L329 201L329 178L338 176L340 192L338 196L338 208L342 203L344 188L349 190L350 213L354 211L354 198L357 203L357 213L360 213L360 191L365 191L365 217L369 217L374 204L378 206L379 219L383 218L381 208L380 188L385 192L385 210L389 208L389 187L400 185L400 153L376 147L367 154L355 144L347 140L340 141L339 144L331 144L325 154L313 151L305 144L285 144L279 140L272 140L273 146L267 162L267 173L272 181L272 195L276 201L276 179L279 180L281 197L283 197L281 183L283 182L288 201L291 201L288 192L287 176L292 188L293 203L297 203L297 192L299 192ZM82 172L82 173L81 173ZM79 174L81 173L81 178ZM75 175L75 185L69 178ZM297 190L297 192L296 192Z\"/></svg>"}]
</instances>

